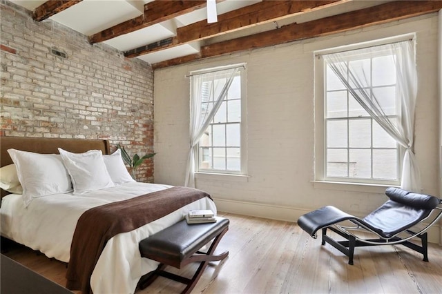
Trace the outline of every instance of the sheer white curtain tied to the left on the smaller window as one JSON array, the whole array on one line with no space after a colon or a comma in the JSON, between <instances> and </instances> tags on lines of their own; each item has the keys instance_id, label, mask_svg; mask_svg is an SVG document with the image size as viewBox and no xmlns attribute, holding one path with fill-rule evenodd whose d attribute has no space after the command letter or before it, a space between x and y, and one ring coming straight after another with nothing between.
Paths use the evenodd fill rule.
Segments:
<instances>
[{"instance_id":1,"label":"sheer white curtain tied to the left on the smaller window","mask_svg":"<svg viewBox=\"0 0 442 294\"><path fill-rule=\"evenodd\" d=\"M216 70L191 76L191 125L190 149L186 165L186 180L184 186L195 187L196 148L210 121L215 116L222 100L227 95L233 77L242 66L225 70ZM213 97L213 104L205 104Z\"/></svg>"}]
</instances>

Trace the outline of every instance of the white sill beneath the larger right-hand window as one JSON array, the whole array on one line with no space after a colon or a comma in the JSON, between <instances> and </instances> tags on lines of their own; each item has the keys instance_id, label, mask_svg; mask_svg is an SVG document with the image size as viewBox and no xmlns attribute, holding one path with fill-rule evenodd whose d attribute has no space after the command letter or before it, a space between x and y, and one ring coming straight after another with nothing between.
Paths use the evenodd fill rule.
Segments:
<instances>
[{"instance_id":1,"label":"white sill beneath the larger right-hand window","mask_svg":"<svg viewBox=\"0 0 442 294\"><path fill-rule=\"evenodd\" d=\"M344 183L344 182L327 182L327 181L311 181L314 188L325 190L343 190L363 193L384 194L388 187L398 187L394 185L382 184L365 184L365 183ZM399 188L399 187L398 187Z\"/></svg>"}]
</instances>

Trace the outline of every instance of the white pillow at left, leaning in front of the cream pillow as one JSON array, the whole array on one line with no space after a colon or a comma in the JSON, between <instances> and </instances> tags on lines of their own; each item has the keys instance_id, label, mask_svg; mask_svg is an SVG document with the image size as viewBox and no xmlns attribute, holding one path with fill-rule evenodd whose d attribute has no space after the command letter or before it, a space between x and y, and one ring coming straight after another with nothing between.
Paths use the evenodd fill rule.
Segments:
<instances>
[{"instance_id":1,"label":"white pillow at left, leaning in front of the cream pillow","mask_svg":"<svg viewBox=\"0 0 442 294\"><path fill-rule=\"evenodd\" d=\"M15 149L8 149L8 153L17 168L25 206L33 198L72 191L72 183L60 155Z\"/></svg>"}]
</instances>

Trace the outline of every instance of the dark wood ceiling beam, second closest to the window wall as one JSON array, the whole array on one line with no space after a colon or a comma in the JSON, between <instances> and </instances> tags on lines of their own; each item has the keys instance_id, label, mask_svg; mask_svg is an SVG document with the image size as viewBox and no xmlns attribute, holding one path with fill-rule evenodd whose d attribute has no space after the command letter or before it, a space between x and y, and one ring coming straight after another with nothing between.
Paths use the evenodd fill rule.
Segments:
<instances>
[{"instance_id":1,"label":"dark wood ceiling beam, second closest to the window wall","mask_svg":"<svg viewBox=\"0 0 442 294\"><path fill-rule=\"evenodd\" d=\"M129 50L124 53L124 56L133 58L158 50L180 46L192 41L208 39L210 37L227 34L228 32L250 28L251 26L258 26L262 23L292 17L296 14L336 6L345 2L348 2L348 0L262 1L251 6L220 14L218 15L218 22L216 23L207 23L206 20L203 20L192 23L189 26L177 28L175 42L169 43L167 46L158 47L148 44L140 48Z\"/></svg>"}]
</instances>

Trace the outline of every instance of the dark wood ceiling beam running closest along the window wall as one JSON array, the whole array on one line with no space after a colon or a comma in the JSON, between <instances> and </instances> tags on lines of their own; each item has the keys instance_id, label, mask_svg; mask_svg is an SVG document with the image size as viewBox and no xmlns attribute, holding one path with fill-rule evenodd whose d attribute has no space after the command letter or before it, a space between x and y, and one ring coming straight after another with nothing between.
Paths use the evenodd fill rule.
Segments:
<instances>
[{"instance_id":1,"label":"dark wood ceiling beam running closest along the window wall","mask_svg":"<svg viewBox=\"0 0 442 294\"><path fill-rule=\"evenodd\" d=\"M273 46L280 43L332 35L338 32L354 30L356 28L365 28L390 21L398 21L409 17L416 17L421 14L436 12L442 9L442 1L394 1L370 8L364 8L352 12L325 17L315 21L305 23L291 23L276 30L261 32L256 35L240 37L229 41L213 43L209 46L203 46L199 55L190 55L194 58L180 57L180 59L171 59L153 64L153 68L164 68L175 66L185 62L195 61L207 57L215 57L250 50Z\"/></svg>"}]
</instances>

